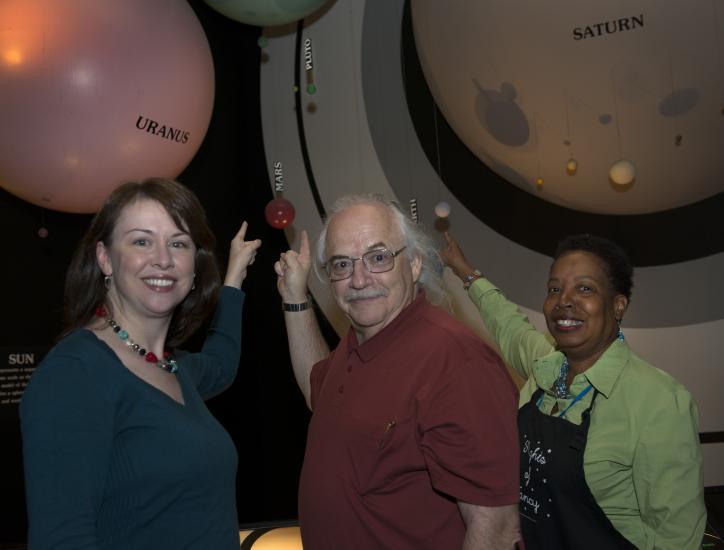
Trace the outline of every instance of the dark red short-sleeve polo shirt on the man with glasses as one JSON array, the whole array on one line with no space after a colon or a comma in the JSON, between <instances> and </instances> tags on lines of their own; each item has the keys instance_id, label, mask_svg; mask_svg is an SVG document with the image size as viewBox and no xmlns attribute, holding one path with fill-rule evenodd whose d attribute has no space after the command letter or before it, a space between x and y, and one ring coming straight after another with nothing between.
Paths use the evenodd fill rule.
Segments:
<instances>
[{"instance_id":1,"label":"dark red short-sleeve polo shirt on the man with glasses","mask_svg":"<svg viewBox=\"0 0 724 550\"><path fill-rule=\"evenodd\" d=\"M305 548L459 548L457 500L518 502L517 389L503 363L421 293L312 370L300 480Z\"/></svg>"}]
</instances>

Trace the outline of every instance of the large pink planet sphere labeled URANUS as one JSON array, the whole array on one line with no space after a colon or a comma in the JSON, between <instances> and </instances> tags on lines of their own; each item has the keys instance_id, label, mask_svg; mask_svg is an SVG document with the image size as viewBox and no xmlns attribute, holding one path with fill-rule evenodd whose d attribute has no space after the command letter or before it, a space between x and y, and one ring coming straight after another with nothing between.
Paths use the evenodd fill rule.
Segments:
<instances>
[{"instance_id":1,"label":"large pink planet sphere labeled URANUS","mask_svg":"<svg viewBox=\"0 0 724 550\"><path fill-rule=\"evenodd\" d=\"M3 0L0 21L0 187L94 212L119 184L193 158L214 68L187 2Z\"/></svg>"}]
</instances>

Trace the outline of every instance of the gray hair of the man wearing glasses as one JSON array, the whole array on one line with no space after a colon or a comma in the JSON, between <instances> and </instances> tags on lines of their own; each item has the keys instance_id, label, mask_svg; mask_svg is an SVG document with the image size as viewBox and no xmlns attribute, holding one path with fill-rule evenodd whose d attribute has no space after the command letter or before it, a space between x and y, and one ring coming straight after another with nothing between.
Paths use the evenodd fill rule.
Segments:
<instances>
[{"instance_id":1,"label":"gray hair of the man wearing glasses","mask_svg":"<svg viewBox=\"0 0 724 550\"><path fill-rule=\"evenodd\" d=\"M449 310L450 300L442 282L443 263L432 238L421 226L409 218L399 204L376 193L345 195L338 198L334 203L317 239L316 262L314 263L314 271L317 277L322 282L329 282L322 266L326 261L327 231L330 221L343 210L362 204L382 206L397 221L402 237L405 240L406 248L404 253L410 258L417 256L422 261L422 269L417 284L425 289L425 295L430 302Z\"/></svg>"}]
</instances>

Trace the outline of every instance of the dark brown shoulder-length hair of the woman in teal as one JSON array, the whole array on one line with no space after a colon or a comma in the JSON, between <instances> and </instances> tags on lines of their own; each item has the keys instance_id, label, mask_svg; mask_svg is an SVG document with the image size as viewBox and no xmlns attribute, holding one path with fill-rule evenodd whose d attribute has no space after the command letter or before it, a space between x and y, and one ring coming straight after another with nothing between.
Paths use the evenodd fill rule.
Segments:
<instances>
[{"instance_id":1,"label":"dark brown shoulder-length hair of the woman in teal","mask_svg":"<svg viewBox=\"0 0 724 550\"><path fill-rule=\"evenodd\" d=\"M187 231L196 246L194 272L196 288L173 313L166 344L176 347L203 323L216 305L221 279L214 255L216 239L206 221L206 214L196 196L172 180L150 178L129 182L116 188L81 239L73 254L65 279L64 329L62 335L86 326L99 305L106 301L104 275L96 259L96 245L111 246L113 229L123 209L141 200L159 203L176 226Z\"/></svg>"}]
</instances>

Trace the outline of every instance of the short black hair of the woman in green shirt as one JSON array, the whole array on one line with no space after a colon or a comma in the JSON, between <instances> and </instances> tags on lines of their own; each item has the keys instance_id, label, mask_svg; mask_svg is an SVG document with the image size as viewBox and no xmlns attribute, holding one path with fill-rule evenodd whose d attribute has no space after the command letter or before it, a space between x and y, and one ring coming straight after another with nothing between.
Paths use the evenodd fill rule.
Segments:
<instances>
[{"instance_id":1,"label":"short black hair of the woman in green shirt","mask_svg":"<svg viewBox=\"0 0 724 550\"><path fill-rule=\"evenodd\" d=\"M589 233L568 235L556 247L554 261L570 252L590 252L595 255L608 272L608 280L617 294L631 300L633 289L633 264L626 251L615 242Z\"/></svg>"}]
</instances>

